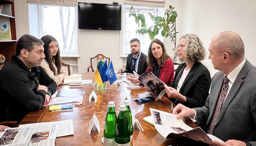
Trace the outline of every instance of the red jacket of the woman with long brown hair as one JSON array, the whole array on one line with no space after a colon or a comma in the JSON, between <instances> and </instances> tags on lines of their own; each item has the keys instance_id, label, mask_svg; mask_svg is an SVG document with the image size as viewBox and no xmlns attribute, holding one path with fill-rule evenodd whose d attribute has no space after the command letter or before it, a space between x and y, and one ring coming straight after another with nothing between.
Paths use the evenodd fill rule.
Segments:
<instances>
[{"instance_id":1,"label":"red jacket of the woman with long brown hair","mask_svg":"<svg viewBox=\"0 0 256 146\"><path fill-rule=\"evenodd\" d=\"M149 67L146 71L153 71ZM174 65L170 58L166 59L164 64L161 67L159 79L163 81L167 86L171 85L172 80L174 79Z\"/></svg>"}]
</instances>

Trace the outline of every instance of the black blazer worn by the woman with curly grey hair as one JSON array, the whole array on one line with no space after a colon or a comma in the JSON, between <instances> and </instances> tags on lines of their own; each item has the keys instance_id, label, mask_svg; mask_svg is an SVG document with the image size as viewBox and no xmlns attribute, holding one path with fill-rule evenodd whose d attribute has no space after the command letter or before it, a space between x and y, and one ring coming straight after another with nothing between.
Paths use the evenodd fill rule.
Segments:
<instances>
[{"instance_id":1,"label":"black blazer worn by the woman with curly grey hair","mask_svg":"<svg viewBox=\"0 0 256 146\"><path fill-rule=\"evenodd\" d=\"M178 81L186 67L186 63L182 63L178 66L175 72L174 80L171 83L171 87L177 89ZM206 66L202 63L194 63L187 77L185 78L180 93L187 98L183 105L189 108L202 107L205 105L208 92L210 90L210 72ZM180 103L175 98L171 98L172 102L177 105Z\"/></svg>"}]
</instances>

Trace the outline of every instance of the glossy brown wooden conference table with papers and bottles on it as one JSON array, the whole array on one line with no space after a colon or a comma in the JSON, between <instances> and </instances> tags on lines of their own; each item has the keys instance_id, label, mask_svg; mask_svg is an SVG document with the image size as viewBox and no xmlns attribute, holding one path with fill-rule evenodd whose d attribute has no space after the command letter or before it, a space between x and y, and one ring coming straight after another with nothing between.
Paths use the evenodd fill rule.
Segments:
<instances>
[{"instance_id":1,"label":"glossy brown wooden conference table with papers and bottles on it","mask_svg":"<svg viewBox=\"0 0 256 146\"><path fill-rule=\"evenodd\" d=\"M88 72L82 74L82 79L92 79L92 82L95 82L94 72ZM126 84L121 82L122 84ZM144 132L139 131L138 128L134 128L133 130L133 145L134 146L156 146L156 145L172 145L172 146L198 146L198 145L206 145L198 141L194 141L188 139L186 137L173 138L173 139L165 139L162 135L156 131L155 127L143 121L143 117L150 115L150 109L154 108L158 110L162 110L165 112L172 112L171 107L172 103L165 96L162 97L161 100L154 101L151 103L142 103L138 104L137 102L132 101L133 98L138 98L135 94L146 93L145 88L137 88L128 90L124 86L120 86L119 89L112 84L108 86L108 90L100 90L94 87L92 84L84 85L80 88L72 88L73 90L84 90L85 96L83 99L83 103L81 105L75 106L74 111L71 112L50 112L48 107L43 107L37 112L28 113L19 124L29 124L29 123L39 123L39 122L49 122L49 121L60 121L60 120L73 120L74 125L74 135L57 137L56 146L78 146L78 145L103 145L102 137L104 131L105 124L105 116L107 112L107 104L109 101L114 101L115 109L117 115L119 113L119 105L122 104L122 99L120 98L120 94L122 91L127 93L127 98L130 101L130 109L134 113L135 117L139 120L142 125ZM69 90L68 85L60 85L57 87L57 90ZM97 94L97 102L95 105L91 105L89 103L89 96L92 91L95 91ZM92 131L89 134L89 123L93 116L96 115L100 122L100 134L97 131ZM188 118L185 118L185 123L192 128L197 127L195 123L193 123Z\"/></svg>"}]
</instances>

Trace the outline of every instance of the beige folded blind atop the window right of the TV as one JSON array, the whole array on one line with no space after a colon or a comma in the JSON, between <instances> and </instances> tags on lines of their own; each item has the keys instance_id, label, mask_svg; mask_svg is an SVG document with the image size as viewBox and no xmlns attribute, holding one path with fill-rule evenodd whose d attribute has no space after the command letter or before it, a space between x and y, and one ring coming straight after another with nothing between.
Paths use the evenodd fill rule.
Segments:
<instances>
[{"instance_id":1,"label":"beige folded blind atop the window right of the TV","mask_svg":"<svg viewBox=\"0 0 256 146\"><path fill-rule=\"evenodd\" d=\"M164 7L165 0L124 0L124 4Z\"/></svg>"}]
</instances>

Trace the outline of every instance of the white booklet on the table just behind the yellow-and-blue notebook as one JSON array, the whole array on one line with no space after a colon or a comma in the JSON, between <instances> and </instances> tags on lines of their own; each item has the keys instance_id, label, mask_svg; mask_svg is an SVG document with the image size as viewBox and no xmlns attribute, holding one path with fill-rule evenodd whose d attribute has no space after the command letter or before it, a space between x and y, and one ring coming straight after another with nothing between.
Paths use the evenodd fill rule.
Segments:
<instances>
[{"instance_id":1,"label":"white booklet on the table just behind the yellow-and-blue notebook","mask_svg":"<svg viewBox=\"0 0 256 146\"><path fill-rule=\"evenodd\" d=\"M63 96L63 97L50 97L49 102L45 102L43 106L52 106L59 104L82 104L83 96Z\"/></svg>"}]
</instances>

